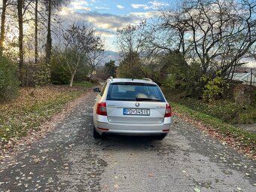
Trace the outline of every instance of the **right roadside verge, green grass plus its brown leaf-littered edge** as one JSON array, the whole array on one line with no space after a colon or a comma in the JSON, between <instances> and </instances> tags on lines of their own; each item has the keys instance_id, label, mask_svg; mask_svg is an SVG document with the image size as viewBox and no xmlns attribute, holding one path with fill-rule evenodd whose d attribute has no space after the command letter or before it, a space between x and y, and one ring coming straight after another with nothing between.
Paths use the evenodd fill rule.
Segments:
<instances>
[{"instance_id":1,"label":"right roadside verge, green grass plus its brown leaf-littered edge","mask_svg":"<svg viewBox=\"0 0 256 192\"><path fill-rule=\"evenodd\" d=\"M255 133L248 133L232 124L225 123L221 118L213 117L210 114L199 111L199 108L194 110L184 104L173 102L170 97L168 97L168 100L176 115L180 115L181 118L189 121L189 123L193 123L195 126L205 130L209 134L218 137L218 139L221 139L224 143L232 145L239 151L256 158ZM193 105L197 105L197 103L194 103Z\"/></svg>"}]
</instances>

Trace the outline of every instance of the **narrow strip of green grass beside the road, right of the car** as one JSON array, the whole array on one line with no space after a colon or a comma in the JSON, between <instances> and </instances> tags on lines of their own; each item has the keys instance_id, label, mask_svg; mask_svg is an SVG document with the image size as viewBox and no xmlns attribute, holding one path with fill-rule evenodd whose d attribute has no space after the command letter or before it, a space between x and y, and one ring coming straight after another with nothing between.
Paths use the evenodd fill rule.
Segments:
<instances>
[{"instance_id":1,"label":"narrow strip of green grass beside the road, right of the car","mask_svg":"<svg viewBox=\"0 0 256 192\"><path fill-rule=\"evenodd\" d=\"M181 114L187 114L187 116L192 117L193 119L200 120L207 126L212 126L215 130L223 133L226 136L232 136L235 139L238 139L244 145L252 146L251 149L256 151L256 134L248 133L244 130L239 129L236 126L225 123L223 120L212 117L212 115L205 114L201 111L196 111L194 109L188 108L185 105L178 104L177 102L170 102L172 108L175 108Z\"/></svg>"}]
</instances>

